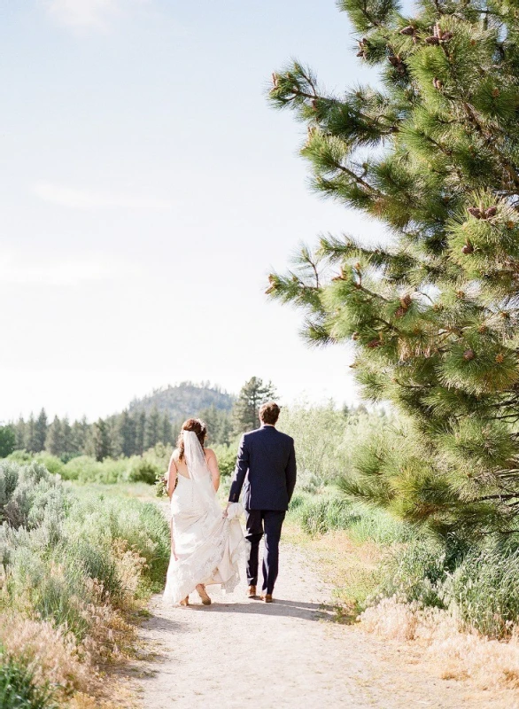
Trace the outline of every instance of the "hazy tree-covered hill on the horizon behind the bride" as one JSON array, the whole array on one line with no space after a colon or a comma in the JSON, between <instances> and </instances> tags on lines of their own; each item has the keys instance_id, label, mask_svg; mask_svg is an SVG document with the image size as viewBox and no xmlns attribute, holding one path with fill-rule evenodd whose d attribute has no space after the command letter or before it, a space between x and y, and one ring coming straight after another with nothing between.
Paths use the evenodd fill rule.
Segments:
<instances>
[{"instance_id":1,"label":"hazy tree-covered hill on the horizon behind the bride","mask_svg":"<svg viewBox=\"0 0 519 709\"><path fill-rule=\"evenodd\" d=\"M160 412L167 413L169 420L177 422L180 419L197 416L204 409L219 409L230 411L234 396L222 392L218 386L208 383L193 384L182 382L175 386L156 389L142 399L134 399L129 405L130 411L146 411L149 413L157 407Z\"/></svg>"}]
</instances>

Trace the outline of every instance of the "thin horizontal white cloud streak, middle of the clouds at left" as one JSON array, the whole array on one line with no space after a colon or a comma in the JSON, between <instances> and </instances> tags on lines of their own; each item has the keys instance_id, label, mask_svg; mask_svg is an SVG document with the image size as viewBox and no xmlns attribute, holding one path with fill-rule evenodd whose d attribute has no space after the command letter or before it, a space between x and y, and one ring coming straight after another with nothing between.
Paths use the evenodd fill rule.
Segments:
<instances>
[{"instance_id":1,"label":"thin horizontal white cloud streak, middle of the clouds at left","mask_svg":"<svg viewBox=\"0 0 519 709\"><path fill-rule=\"evenodd\" d=\"M169 199L158 199L140 194L116 194L90 190L77 190L59 184L38 183L34 188L35 195L45 202L69 209L147 209L162 212L171 209L174 202Z\"/></svg>"}]
</instances>

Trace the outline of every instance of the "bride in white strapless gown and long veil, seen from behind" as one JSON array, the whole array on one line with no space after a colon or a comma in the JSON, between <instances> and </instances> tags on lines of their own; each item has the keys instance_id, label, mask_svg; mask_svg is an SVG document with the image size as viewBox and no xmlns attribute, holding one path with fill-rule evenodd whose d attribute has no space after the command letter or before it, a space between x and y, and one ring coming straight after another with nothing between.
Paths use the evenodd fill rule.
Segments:
<instances>
[{"instance_id":1,"label":"bride in white strapless gown and long veil, seen from behind","mask_svg":"<svg viewBox=\"0 0 519 709\"><path fill-rule=\"evenodd\" d=\"M174 604L188 605L195 588L202 603L211 604L205 590L210 584L234 590L247 545L237 518L241 505L231 505L224 517L218 502L220 471L213 450L204 448L206 435L204 422L189 418L169 462L171 559L164 599Z\"/></svg>"}]
</instances>

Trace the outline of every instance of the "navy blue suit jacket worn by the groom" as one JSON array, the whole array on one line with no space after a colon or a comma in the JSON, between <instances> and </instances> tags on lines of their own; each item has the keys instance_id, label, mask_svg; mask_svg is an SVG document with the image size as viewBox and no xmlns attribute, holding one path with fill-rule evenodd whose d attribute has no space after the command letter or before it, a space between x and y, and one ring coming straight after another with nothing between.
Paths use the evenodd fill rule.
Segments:
<instances>
[{"instance_id":1,"label":"navy blue suit jacket worn by the groom","mask_svg":"<svg viewBox=\"0 0 519 709\"><path fill-rule=\"evenodd\" d=\"M294 440L274 426L244 433L238 450L229 503L244 487L245 510L288 510L296 487Z\"/></svg>"}]
</instances>

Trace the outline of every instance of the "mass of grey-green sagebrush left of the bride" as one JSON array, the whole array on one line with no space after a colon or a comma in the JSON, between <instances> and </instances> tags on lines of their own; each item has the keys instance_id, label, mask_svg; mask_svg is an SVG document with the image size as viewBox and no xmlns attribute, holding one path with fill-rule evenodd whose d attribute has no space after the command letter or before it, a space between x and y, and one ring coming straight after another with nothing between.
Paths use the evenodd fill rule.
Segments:
<instances>
[{"instance_id":1,"label":"mass of grey-green sagebrush left of the bride","mask_svg":"<svg viewBox=\"0 0 519 709\"><path fill-rule=\"evenodd\" d=\"M137 594L164 583L169 528L151 503L93 493L78 499L41 464L3 462L0 519L3 603L66 626L78 639L89 632L89 604L117 605L124 596L115 556L121 543L145 561Z\"/></svg>"}]
</instances>

